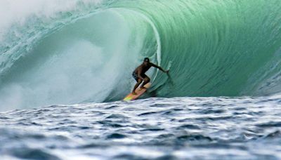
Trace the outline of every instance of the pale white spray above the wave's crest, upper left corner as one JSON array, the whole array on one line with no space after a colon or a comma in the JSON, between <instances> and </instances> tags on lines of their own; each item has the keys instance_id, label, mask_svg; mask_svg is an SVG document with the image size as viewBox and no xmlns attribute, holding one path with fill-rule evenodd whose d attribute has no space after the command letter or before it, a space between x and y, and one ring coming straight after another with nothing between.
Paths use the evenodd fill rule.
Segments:
<instances>
[{"instance_id":1,"label":"pale white spray above the wave's crest, upper left corner","mask_svg":"<svg viewBox=\"0 0 281 160\"><path fill-rule=\"evenodd\" d=\"M102 0L1 0L0 40L11 25L25 25L32 15L52 18L58 12L75 10L78 3L99 4Z\"/></svg>"}]
</instances>

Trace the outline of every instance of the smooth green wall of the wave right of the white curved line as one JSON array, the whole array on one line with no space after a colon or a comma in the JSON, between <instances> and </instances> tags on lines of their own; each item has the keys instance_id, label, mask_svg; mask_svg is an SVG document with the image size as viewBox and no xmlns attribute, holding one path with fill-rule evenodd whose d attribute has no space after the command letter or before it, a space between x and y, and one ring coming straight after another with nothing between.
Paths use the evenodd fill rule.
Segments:
<instances>
[{"instance_id":1,"label":"smooth green wall of the wave right of the white curved line","mask_svg":"<svg viewBox=\"0 0 281 160\"><path fill-rule=\"evenodd\" d=\"M119 1L113 6L142 13L157 28L162 65L172 62L174 81L161 95L262 94L259 87L279 72L280 66L270 68L279 64L281 1ZM159 74L155 85L163 79Z\"/></svg>"}]
</instances>

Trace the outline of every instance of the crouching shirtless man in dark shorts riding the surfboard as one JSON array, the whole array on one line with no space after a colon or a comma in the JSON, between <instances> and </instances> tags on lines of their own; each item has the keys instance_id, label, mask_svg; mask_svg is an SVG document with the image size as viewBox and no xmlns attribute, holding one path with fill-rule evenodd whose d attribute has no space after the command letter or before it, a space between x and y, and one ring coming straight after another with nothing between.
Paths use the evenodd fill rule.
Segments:
<instances>
[{"instance_id":1,"label":"crouching shirtless man in dark shorts riding the surfboard","mask_svg":"<svg viewBox=\"0 0 281 160\"><path fill-rule=\"evenodd\" d=\"M136 85L133 87L133 91L132 91L133 95L136 95L136 88L138 88L138 86L140 86L142 82L143 82L143 85L141 85L142 89L145 88L144 87L145 84L148 84L148 82L150 82L150 78L145 74L145 72L147 72L148 69L150 69L150 67L155 67L165 73L169 72L169 70L165 71L164 69L162 69L162 67L159 67L153 64L152 62L150 62L149 58L145 58L143 60L143 63L133 71L133 79L136 79L137 81Z\"/></svg>"}]
</instances>

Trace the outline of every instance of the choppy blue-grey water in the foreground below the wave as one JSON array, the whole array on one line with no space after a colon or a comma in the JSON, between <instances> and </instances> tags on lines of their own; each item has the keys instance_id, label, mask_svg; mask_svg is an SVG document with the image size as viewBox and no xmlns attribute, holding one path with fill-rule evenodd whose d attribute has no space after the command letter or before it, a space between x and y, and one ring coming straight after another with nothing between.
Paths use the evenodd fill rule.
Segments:
<instances>
[{"instance_id":1,"label":"choppy blue-grey water in the foreground below the wave","mask_svg":"<svg viewBox=\"0 0 281 160\"><path fill-rule=\"evenodd\" d=\"M266 100L265 100L266 99ZM148 98L0 114L1 159L281 159L280 96Z\"/></svg>"}]
</instances>

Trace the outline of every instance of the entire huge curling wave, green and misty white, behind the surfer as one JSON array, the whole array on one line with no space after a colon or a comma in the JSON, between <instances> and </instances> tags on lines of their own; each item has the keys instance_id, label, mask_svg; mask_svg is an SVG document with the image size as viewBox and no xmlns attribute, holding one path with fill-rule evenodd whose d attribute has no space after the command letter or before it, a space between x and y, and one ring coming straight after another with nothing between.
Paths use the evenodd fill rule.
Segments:
<instances>
[{"instance_id":1,"label":"entire huge curling wave, green and misty white, behind the surfer","mask_svg":"<svg viewBox=\"0 0 281 160\"><path fill-rule=\"evenodd\" d=\"M159 97L281 90L279 0L1 3L1 109L119 100L145 56Z\"/></svg>"}]
</instances>

